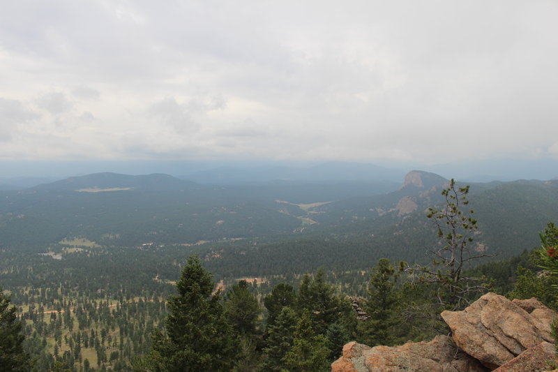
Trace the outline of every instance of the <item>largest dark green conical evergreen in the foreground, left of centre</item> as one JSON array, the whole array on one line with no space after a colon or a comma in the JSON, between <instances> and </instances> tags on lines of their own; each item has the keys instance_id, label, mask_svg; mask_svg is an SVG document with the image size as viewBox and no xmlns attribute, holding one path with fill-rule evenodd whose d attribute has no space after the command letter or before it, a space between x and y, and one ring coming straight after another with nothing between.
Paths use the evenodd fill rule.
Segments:
<instances>
[{"instance_id":1,"label":"largest dark green conical evergreen in the foreground, left of centre","mask_svg":"<svg viewBox=\"0 0 558 372\"><path fill-rule=\"evenodd\" d=\"M165 334L156 333L153 349L136 371L230 371L237 343L227 323L211 274L197 256L190 257L169 297Z\"/></svg>"}]
</instances>

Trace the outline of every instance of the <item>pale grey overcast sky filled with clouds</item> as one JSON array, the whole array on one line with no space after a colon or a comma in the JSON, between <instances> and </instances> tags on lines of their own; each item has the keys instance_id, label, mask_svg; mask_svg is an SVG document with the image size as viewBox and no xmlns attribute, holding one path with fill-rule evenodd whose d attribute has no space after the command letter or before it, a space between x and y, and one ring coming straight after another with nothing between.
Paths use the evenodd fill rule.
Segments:
<instances>
[{"instance_id":1,"label":"pale grey overcast sky filled with clouds","mask_svg":"<svg viewBox=\"0 0 558 372\"><path fill-rule=\"evenodd\" d=\"M0 1L0 160L558 158L557 1Z\"/></svg>"}]
</instances>

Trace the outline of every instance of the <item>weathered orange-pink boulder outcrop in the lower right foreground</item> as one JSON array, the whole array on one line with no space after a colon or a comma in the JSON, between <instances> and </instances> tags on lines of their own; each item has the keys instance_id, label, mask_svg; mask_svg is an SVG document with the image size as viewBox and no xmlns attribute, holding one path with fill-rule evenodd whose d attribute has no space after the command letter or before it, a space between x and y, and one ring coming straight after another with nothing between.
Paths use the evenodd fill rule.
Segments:
<instances>
[{"instance_id":1,"label":"weathered orange-pink boulder outcrop in the lower right foreground","mask_svg":"<svg viewBox=\"0 0 558 372\"><path fill-rule=\"evenodd\" d=\"M370 348L347 343L332 372L534 372L555 361L550 323L557 317L535 298L510 301L487 293L463 311L444 311L452 338Z\"/></svg>"}]
</instances>

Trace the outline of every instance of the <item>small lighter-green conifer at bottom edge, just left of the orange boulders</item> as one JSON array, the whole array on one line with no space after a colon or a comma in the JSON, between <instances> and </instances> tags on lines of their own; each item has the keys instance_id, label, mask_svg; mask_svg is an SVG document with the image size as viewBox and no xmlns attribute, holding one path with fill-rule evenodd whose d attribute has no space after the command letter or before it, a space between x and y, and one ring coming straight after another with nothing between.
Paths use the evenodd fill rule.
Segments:
<instances>
[{"instance_id":1,"label":"small lighter-green conifer at bottom edge, just left of the orange boulders","mask_svg":"<svg viewBox=\"0 0 558 372\"><path fill-rule=\"evenodd\" d=\"M312 326L310 311L304 310L296 325L292 348L285 355L285 364L292 372L329 371L329 340L323 334L316 334Z\"/></svg>"}]
</instances>

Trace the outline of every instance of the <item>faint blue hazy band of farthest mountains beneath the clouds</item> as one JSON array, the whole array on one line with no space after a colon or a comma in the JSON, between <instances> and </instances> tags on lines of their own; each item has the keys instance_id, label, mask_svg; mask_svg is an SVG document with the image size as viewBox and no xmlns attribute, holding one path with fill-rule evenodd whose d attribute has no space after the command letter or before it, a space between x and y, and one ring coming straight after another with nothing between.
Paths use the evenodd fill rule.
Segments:
<instances>
[{"instance_id":1,"label":"faint blue hazy band of farthest mountains beneath the clouds","mask_svg":"<svg viewBox=\"0 0 558 372\"><path fill-rule=\"evenodd\" d=\"M411 169L454 177L462 181L514 179L551 179L558 177L558 159L497 159L462 161L437 165L409 163L355 163L330 161L309 165L301 161L0 161L0 184L6 189L20 189L66 179L69 175L110 171L118 174L173 174L200 184L266 184L269 182L324 183L364 181L400 183ZM15 177L13 174L33 174Z\"/></svg>"}]
</instances>

